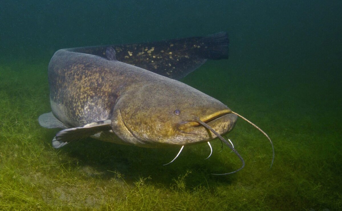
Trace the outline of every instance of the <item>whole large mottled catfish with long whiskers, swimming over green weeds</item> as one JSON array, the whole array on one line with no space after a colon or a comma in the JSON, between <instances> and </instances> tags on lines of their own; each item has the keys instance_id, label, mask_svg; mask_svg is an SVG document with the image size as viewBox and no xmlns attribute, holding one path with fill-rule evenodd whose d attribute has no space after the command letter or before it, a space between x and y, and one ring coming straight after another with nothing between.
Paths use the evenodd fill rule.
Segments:
<instances>
[{"instance_id":1,"label":"whole large mottled catfish with long whiskers, swimming over green weeds","mask_svg":"<svg viewBox=\"0 0 342 211\"><path fill-rule=\"evenodd\" d=\"M116 144L182 150L202 142L210 146L209 141L219 137L241 159L237 172L245 162L221 135L234 128L240 115L175 80L208 59L228 58L228 44L227 34L220 32L58 50L48 68L52 112L41 115L39 123L63 129L53 138L55 148L90 136ZM274 150L272 163L273 159Z\"/></svg>"}]
</instances>

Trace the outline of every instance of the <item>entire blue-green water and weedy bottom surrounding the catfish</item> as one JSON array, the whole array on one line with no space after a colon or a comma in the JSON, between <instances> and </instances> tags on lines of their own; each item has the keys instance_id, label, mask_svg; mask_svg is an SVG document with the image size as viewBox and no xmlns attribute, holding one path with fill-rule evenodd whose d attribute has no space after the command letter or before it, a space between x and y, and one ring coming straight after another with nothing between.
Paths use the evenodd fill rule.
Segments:
<instances>
[{"instance_id":1,"label":"entire blue-green water and weedy bottom surrounding the catfish","mask_svg":"<svg viewBox=\"0 0 342 211\"><path fill-rule=\"evenodd\" d=\"M341 210L342 1L0 1L0 210ZM59 150L47 67L62 48L229 35L229 59L181 81L238 120L221 143Z\"/></svg>"}]
</instances>

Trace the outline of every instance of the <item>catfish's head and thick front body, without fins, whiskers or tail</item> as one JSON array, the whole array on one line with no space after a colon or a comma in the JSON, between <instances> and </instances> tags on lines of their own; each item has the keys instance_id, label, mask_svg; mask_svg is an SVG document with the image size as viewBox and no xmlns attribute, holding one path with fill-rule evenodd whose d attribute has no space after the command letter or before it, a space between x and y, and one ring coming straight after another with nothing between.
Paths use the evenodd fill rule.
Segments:
<instances>
[{"instance_id":1,"label":"catfish's head and thick front body, without fins, whiskers or tail","mask_svg":"<svg viewBox=\"0 0 342 211\"><path fill-rule=\"evenodd\" d=\"M118 144L196 144L215 136L202 127L180 129L182 122L194 118L206 121L213 114L224 114L208 123L222 134L234 128L237 118L220 101L180 81L68 49L58 50L52 57L49 84L52 113L59 121L68 128L76 128L111 120L112 132L92 137ZM176 109L181 111L180 115L174 114Z\"/></svg>"}]
</instances>

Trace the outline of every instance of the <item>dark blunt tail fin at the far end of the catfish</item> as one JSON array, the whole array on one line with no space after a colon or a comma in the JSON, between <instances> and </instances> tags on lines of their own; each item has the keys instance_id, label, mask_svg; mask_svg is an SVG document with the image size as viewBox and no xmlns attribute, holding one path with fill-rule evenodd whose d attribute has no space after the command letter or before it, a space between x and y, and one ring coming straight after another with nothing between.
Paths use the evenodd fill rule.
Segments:
<instances>
[{"instance_id":1,"label":"dark blunt tail fin at the far end of the catfish","mask_svg":"<svg viewBox=\"0 0 342 211\"><path fill-rule=\"evenodd\" d=\"M201 57L210 60L220 60L228 58L229 39L227 32L219 32L199 40L199 44L204 45L199 54Z\"/></svg>"}]
</instances>

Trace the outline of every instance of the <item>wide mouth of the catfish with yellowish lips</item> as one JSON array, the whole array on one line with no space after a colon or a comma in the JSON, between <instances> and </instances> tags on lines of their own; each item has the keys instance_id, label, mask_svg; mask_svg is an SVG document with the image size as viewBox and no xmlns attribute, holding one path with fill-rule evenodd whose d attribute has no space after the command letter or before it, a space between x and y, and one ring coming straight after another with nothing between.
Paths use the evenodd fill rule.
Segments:
<instances>
[{"instance_id":1,"label":"wide mouth of the catfish with yellowish lips","mask_svg":"<svg viewBox=\"0 0 342 211\"><path fill-rule=\"evenodd\" d=\"M180 122L177 129L182 133L196 134L196 128L202 129L202 125L198 123L196 119L199 119L213 127L215 125L219 125L220 123L223 124L224 122L229 122L228 124L234 127L237 116L232 114L231 109L224 109L200 118L194 118L192 120ZM227 130L231 130L233 127L227 128Z\"/></svg>"}]
</instances>

